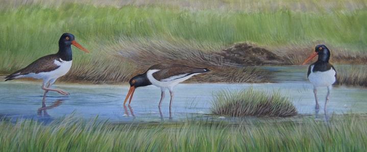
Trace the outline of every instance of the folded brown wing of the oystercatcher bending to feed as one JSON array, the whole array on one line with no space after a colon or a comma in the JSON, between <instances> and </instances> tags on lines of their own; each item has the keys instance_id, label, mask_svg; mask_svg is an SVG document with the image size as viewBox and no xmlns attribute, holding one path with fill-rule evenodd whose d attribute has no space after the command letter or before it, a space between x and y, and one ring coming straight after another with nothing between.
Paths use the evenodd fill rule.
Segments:
<instances>
[{"instance_id":1,"label":"folded brown wing of the oystercatcher bending to feed","mask_svg":"<svg viewBox=\"0 0 367 152\"><path fill-rule=\"evenodd\" d=\"M153 77L159 81L170 81L194 73L203 73L209 71L207 68L194 68L179 64L158 64L149 68L149 70L154 69L160 70L153 73Z\"/></svg>"}]
</instances>

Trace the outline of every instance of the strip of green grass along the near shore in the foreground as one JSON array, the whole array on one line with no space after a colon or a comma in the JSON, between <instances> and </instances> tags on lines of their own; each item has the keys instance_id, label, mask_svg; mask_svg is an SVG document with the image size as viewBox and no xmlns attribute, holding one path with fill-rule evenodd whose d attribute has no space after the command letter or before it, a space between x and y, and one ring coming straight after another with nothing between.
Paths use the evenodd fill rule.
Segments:
<instances>
[{"instance_id":1,"label":"strip of green grass along the near shore in the foreground","mask_svg":"<svg viewBox=\"0 0 367 152\"><path fill-rule=\"evenodd\" d=\"M0 151L366 151L366 125L360 116L239 125L2 121Z\"/></svg>"}]
</instances>

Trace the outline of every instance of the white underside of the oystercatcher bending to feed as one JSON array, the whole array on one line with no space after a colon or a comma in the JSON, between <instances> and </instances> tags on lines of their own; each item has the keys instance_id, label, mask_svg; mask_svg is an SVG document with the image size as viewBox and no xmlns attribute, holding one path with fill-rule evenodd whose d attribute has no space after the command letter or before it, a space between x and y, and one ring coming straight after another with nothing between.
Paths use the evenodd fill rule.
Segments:
<instances>
[{"instance_id":1,"label":"white underside of the oystercatcher bending to feed","mask_svg":"<svg viewBox=\"0 0 367 152\"><path fill-rule=\"evenodd\" d=\"M191 78L194 75L198 75L200 73L194 73L194 74L180 74L180 75L176 75L176 76L172 76L172 77L168 77L165 79L162 79L161 81L155 79L153 77L153 73L158 72L160 70L148 70L146 72L146 76L148 77L149 81L151 81L151 83L157 87L161 87L161 88L168 88L169 90L172 90L174 86L176 86L177 84L179 84L182 81L185 81L189 78ZM187 76L185 76L187 75Z\"/></svg>"}]
</instances>

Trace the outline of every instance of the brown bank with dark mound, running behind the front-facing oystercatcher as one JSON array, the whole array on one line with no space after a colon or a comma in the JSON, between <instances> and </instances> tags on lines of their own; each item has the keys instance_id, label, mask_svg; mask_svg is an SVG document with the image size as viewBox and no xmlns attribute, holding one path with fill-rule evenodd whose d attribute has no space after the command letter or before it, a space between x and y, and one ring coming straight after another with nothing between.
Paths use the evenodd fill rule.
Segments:
<instances>
[{"instance_id":1,"label":"brown bank with dark mound, running behind the front-facing oystercatcher","mask_svg":"<svg viewBox=\"0 0 367 152\"><path fill-rule=\"evenodd\" d=\"M355 52L329 46L330 62L333 64L365 64L367 53ZM248 43L238 43L215 53L230 63L241 66L300 65L313 51L313 46L292 46L266 49ZM316 60L316 58L314 59Z\"/></svg>"}]
</instances>

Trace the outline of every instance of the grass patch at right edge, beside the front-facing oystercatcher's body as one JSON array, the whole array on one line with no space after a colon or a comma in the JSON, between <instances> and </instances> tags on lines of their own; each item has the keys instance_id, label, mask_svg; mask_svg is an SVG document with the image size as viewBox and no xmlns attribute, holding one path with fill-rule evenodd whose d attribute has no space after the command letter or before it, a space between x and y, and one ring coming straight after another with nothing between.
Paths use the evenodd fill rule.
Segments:
<instances>
[{"instance_id":1,"label":"grass patch at right edge, beside the front-facing oystercatcher's body","mask_svg":"<svg viewBox=\"0 0 367 152\"><path fill-rule=\"evenodd\" d=\"M365 65L337 65L336 82L340 85L367 86L367 66Z\"/></svg>"}]
</instances>

